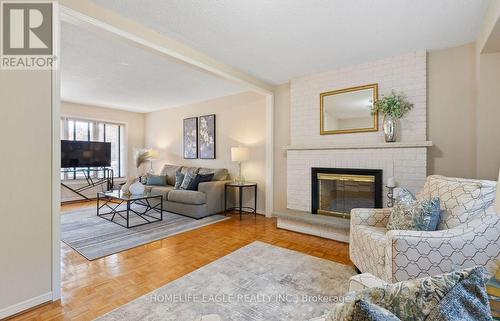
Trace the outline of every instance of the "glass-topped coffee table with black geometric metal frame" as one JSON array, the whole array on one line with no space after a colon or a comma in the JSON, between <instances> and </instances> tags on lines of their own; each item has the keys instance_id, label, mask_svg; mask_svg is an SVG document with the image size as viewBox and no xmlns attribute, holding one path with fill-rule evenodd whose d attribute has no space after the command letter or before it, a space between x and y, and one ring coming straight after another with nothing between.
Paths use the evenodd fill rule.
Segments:
<instances>
[{"instance_id":1,"label":"glass-topped coffee table with black geometric metal frame","mask_svg":"<svg viewBox=\"0 0 500 321\"><path fill-rule=\"evenodd\" d=\"M163 195L134 195L121 190L97 193L97 216L131 228L163 220Z\"/></svg>"}]
</instances>

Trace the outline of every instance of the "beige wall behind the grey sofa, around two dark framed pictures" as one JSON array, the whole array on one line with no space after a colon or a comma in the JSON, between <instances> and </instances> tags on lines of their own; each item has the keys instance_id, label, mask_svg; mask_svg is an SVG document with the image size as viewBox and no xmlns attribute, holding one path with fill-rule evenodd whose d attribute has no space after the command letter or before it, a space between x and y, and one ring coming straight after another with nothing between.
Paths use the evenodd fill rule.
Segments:
<instances>
[{"instance_id":1,"label":"beige wall behind the grey sofa, around two dark framed pictures","mask_svg":"<svg viewBox=\"0 0 500 321\"><path fill-rule=\"evenodd\" d=\"M183 119L216 115L216 159L187 160L183 158ZM146 115L146 146L158 149L160 160L155 170L165 163L210 168L227 168L232 177L238 173L237 163L231 161L231 147L250 149L251 159L243 164L243 175L258 183L259 212L265 210L265 158L266 158L266 100L256 93L247 92L226 96L177 108L164 109ZM250 195L245 195L248 200ZM253 202L250 199L249 205ZM253 204L252 204L253 205Z\"/></svg>"}]
</instances>

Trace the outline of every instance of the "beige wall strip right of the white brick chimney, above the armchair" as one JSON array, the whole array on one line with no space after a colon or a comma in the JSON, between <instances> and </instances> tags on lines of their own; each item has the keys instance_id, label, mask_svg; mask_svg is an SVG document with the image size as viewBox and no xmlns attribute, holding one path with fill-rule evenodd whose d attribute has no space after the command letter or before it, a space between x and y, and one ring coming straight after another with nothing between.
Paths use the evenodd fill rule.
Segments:
<instances>
[{"instance_id":1,"label":"beige wall strip right of the white brick chimney, above the armchair","mask_svg":"<svg viewBox=\"0 0 500 321\"><path fill-rule=\"evenodd\" d=\"M430 174L476 177L475 52L474 43L429 52Z\"/></svg>"}]
</instances>

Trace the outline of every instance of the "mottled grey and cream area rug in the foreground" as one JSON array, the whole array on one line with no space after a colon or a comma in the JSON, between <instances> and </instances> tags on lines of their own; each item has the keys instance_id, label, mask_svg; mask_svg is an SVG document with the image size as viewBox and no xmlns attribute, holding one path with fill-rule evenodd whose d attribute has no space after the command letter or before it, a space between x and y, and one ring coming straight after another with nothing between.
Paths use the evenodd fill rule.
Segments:
<instances>
[{"instance_id":1,"label":"mottled grey and cream area rug in the foreground","mask_svg":"<svg viewBox=\"0 0 500 321\"><path fill-rule=\"evenodd\" d=\"M254 242L97 320L311 320L342 299L355 274L347 265Z\"/></svg>"}]
</instances>

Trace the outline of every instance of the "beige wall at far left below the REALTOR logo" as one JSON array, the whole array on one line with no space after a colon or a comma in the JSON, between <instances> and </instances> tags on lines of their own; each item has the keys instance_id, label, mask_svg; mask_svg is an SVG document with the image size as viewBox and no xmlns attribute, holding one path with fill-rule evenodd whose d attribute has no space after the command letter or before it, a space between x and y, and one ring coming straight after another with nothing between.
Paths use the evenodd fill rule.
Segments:
<instances>
[{"instance_id":1,"label":"beige wall at far left below the REALTOR logo","mask_svg":"<svg viewBox=\"0 0 500 321\"><path fill-rule=\"evenodd\" d=\"M0 70L0 318L52 299L51 81Z\"/></svg>"}]
</instances>

